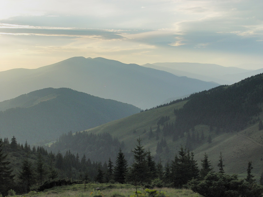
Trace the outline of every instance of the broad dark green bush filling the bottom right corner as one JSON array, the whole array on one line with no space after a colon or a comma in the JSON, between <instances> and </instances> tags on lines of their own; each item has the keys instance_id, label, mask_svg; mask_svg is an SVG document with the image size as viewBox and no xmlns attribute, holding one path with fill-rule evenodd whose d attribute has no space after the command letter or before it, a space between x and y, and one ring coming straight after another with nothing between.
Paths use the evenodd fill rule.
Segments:
<instances>
[{"instance_id":1,"label":"broad dark green bush filling the bottom right corner","mask_svg":"<svg viewBox=\"0 0 263 197\"><path fill-rule=\"evenodd\" d=\"M236 174L209 173L203 180L188 182L192 191L205 197L261 197L263 187L238 179Z\"/></svg>"}]
</instances>

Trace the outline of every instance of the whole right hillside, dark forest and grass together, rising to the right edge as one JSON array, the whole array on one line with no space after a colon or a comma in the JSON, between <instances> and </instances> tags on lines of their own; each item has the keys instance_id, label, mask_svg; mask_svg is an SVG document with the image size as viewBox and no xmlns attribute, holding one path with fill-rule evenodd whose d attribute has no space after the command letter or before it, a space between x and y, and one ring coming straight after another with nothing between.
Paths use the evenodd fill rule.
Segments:
<instances>
[{"instance_id":1,"label":"whole right hillside, dark forest and grass together, rising to the right edge","mask_svg":"<svg viewBox=\"0 0 263 197\"><path fill-rule=\"evenodd\" d=\"M163 162L172 160L180 146L183 145L193 150L199 164L204 154L207 153L216 171L218 170L219 155L222 152L226 172L238 173L241 176L242 174L245 176L248 160L252 160L253 173L258 178L263 170L263 134L262 130L258 130L259 120L263 119L260 97L260 95L263 95L261 92L262 86L263 75L260 74L232 86L221 86L193 94L183 102L134 114L86 131L97 134L109 132L112 136L118 137L120 141L124 141L125 151L128 152L134 148L136 139L140 137L144 148L150 149L155 155L156 161L159 158ZM218 110L222 110L222 108L226 110L222 110L220 114L215 111L216 107L209 108L211 102L202 100L204 94L208 99L214 99L211 102L217 103ZM216 99L217 94L221 95L218 99ZM193 103L196 102L196 107L191 109L189 106L194 106ZM233 106L236 106L236 108ZM177 111L177 109L179 110ZM176 111L177 117L174 111ZM193 123L206 113L209 114L209 117L213 117L214 124L209 121L205 122L211 120L209 118L203 118L202 121ZM174 130L165 136L162 131L164 126L160 126L161 133L159 134L159 140L156 140L157 122L163 116L170 117L166 123L174 124ZM240 119L243 121L242 124ZM182 121L178 123L178 120ZM187 121L183 122L184 120ZM150 127L153 131L153 137L151 138L149 138ZM177 138L174 137L175 133ZM211 137L210 143L208 143L209 136ZM166 140L167 147L162 147L162 152L157 153L157 144L161 143L162 138Z\"/></svg>"}]
</instances>

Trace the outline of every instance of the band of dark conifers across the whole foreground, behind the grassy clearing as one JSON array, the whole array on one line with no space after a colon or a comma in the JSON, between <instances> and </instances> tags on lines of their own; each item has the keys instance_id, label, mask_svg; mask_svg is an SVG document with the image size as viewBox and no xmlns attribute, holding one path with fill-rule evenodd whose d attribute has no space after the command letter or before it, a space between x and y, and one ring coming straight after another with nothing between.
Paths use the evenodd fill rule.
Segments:
<instances>
[{"instance_id":1,"label":"band of dark conifers across the whole foreground, behind the grassy clearing","mask_svg":"<svg viewBox=\"0 0 263 197\"><path fill-rule=\"evenodd\" d=\"M10 154L12 160L15 159L13 154L24 155L19 169L10 167L11 163L7 160L7 153ZM6 138L4 141L0 139L0 192L2 195L6 195L10 189L17 193L43 189L48 187L52 180L61 182L59 178L66 177L84 182L119 182L144 185L145 187L188 187L204 196L212 196L206 195L204 190L213 184L221 184L220 187L224 188L226 193L229 193L229 188L231 188L231 195L221 196L235 197L239 195L234 195L234 193L239 194L245 190L248 195L243 196L257 197L259 195L256 193L263 191L263 187L259 186L253 178L251 161L248 162L247 178L238 179L237 175L224 173L221 153L218 172L212 168L207 154L201 160L201 168L199 169L197 161L194 159L194 153L183 146L175 158L164 166L161 160L157 163L153 160L151 152L144 149L140 138L137 139L137 145L132 153L134 162L130 166L128 166L121 148L119 148L115 164L111 158L102 164L101 162L91 162L85 155L80 159L78 154L75 156L70 151L63 156L61 153L48 153L43 147L35 148L33 146L31 149L27 143L24 146L17 144L14 136L11 143ZM260 183L263 183L263 175ZM229 184L232 185L228 187Z\"/></svg>"}]
</instances>

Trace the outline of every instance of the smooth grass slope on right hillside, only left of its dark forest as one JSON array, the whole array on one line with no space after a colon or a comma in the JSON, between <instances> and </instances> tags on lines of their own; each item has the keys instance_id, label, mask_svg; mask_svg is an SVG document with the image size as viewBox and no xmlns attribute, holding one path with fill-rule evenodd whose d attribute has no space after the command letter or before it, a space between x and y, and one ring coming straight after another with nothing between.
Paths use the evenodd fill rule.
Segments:
<instances>
[{"instance_id":1,"label":"smooth grass slope on right hillside, only left of its dark forest","mask_svg":"<svg viewBox=\"0 0 263 197\"><path fill-rule=\"evenodd\" d=\"M184 103L185 102L180 102L167 107L161 107L134 114L126 118L102 124L86 131L93 133L109 132L112 136L118 137L120 141L124 141L125 145L127 146L127 150L133 149L135 147L136 140L140 137L140 139L143 141L144 148L150 149L150 151L154 153L156 150L157 141L155 138L149 140L147 132L149 132L150 127L152 127L153 131L157 129L157 121L162 116L170 116L170 121L174 122L175 115L173 110L175 108L183 107ZM144 129L146 130L146 133L144 133ZM134 130L136 130L136 133L133 132Z\"/></svg>"}]
</instances>

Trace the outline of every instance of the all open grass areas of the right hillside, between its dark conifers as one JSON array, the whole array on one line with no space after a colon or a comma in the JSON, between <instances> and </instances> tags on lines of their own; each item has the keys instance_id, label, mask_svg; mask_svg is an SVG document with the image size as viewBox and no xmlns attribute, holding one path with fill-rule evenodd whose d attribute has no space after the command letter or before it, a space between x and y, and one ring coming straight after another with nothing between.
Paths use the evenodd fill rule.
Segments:
<instances>
[{"instance_id":1,"label":"all open grass areas of the right hillside, between its dark conifers","mask_svg":"<svg viewBox=\"0 0 263 197\"><path fill-rule=\"evenodd\" d=\"M170 121L174 122L174 108L182 107L185 102L186 101L131 115L96 128L88 129L87 131L94 133L109 132L112 136L117 136L120 141L124 141L127 146L126 151L133 149L136 145L136 139L140 137L143 140L144 148L146 150L150 149L153 155L155 155L157 140L155 140L155 137L151 140L148 139L147 132L149 132L149 128L152 127L153 132L155 132L157 121L165 115L169 115ZM260 118L263 118L262 114ZM136 133L133 133L134 129L136 129ZM146 133L144 133L144 129L146 129ZM195 130L199 131L199 134L201 131L205 134L205 140L203 140L202 144L195 146L193 149L195 159L198 161L199 165L201 162L200 160L203 159L204 154L207 153L214 170L218 171L217 164L221 151L226 173L237 173L239 176L245 177L248 161L252 160L252 166L254 167L252 174L259 180L259 176L263 170L263 161L261 161L261 157L263 158L263 133L262 130L258 131L258 122L249 125L243 131L224 133L221 135L216 135L214 131L209 132L209 127L206 125L198 125L195 127ZM207 143L209 134L212 135L211 144ZM160 140L161 138L162 136L160 135ZM170 153L168 155L163 154L161 156L162 161L166 161L167 158L172 160L175 154L177 154L180 146L185 145L186 137L173 142L171 137L167 136L166 141Z\"/></svg>"}]
</instances>

